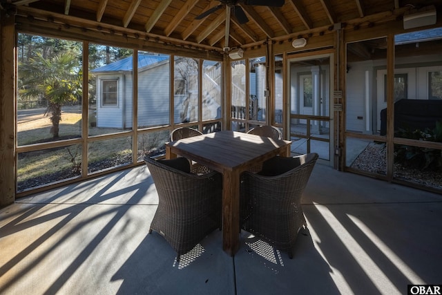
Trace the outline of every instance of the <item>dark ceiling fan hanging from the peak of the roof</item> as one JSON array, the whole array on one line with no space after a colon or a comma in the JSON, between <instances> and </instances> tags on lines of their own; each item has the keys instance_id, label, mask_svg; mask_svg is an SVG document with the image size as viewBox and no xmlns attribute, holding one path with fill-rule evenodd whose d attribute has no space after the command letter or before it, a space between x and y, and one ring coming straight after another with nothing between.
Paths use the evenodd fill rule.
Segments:
<instances>
[{"instance_id":1,"label":"dark ceiling fan hanging from the peak of the roof","mask_svg":"<svg viewBox=\"0 0 442 295\"><path fill-rule=\"evenodd\" d=\"M204 19L208 15L211 15L213 12L220 10L224 6L226 7L226 32L225 32L225 42L224 42L224 51L229 51L229 32L230 32L230 16L231 12L238 20L238 23L247 23L249 19L247 15L242 10L239 3L244 3L245 5L250 6L269 6L269 7L282 7L284 5L285 0L218 0L220 4L210 8L202 12L201 15L195 17L195 19Z\"/></svg>"}]
</instances>

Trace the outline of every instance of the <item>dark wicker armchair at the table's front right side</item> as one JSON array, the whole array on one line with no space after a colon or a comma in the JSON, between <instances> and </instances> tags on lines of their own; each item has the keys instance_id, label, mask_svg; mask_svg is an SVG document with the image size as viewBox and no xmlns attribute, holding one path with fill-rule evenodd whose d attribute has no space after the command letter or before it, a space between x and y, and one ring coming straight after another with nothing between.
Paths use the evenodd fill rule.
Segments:
<instances>
[{"instance_id":1,"label":"dark wicker armchair at the table's front right side","mask_svg":"<svg viewBox=\"0 0 442 295\"><path fill-rule=\"evenodd\" d=\"M289 258L293 258L298 231L307 227L300 200L317 159L317 153L274 157L262 164L262 171L241 175L242 229L288 251Z\"/></svg>"}]
</instances>

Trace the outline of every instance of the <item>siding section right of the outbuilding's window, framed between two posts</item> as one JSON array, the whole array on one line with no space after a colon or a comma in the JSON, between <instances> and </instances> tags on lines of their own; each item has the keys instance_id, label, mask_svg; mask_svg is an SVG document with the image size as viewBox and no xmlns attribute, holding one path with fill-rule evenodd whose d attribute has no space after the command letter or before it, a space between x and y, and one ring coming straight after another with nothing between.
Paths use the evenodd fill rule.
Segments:
<instances>
[{"instance_id":1,"label":"siding section right of the outbuilding's window, framed between two posts","mask_svg":"<svg viewBox=\"0 0 442 295\"><path fill-rule=\"evenodd\" d=\"M138 126L169 124L169 60L138 74Z\"/></svg>"}]
</instances>

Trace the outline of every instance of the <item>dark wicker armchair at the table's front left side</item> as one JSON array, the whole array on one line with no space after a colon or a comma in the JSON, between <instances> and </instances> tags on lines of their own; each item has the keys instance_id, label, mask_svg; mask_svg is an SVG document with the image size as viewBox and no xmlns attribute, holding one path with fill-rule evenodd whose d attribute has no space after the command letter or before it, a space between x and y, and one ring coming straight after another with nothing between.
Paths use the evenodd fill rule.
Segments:
<instances>
[{"instance_id":1,"label":"dark wicker armchair at the table's front left side","mask_svg":"<svg viewBox=\"0 0 442 295\"><path fill-rule=\"evenodd\" d=\"M222 227L222 175L191 173L186 158L144 158L158 193L158 207L149 234L164 236L177 252L193 249L207 234Z\"/></svg>"}]
</instances>

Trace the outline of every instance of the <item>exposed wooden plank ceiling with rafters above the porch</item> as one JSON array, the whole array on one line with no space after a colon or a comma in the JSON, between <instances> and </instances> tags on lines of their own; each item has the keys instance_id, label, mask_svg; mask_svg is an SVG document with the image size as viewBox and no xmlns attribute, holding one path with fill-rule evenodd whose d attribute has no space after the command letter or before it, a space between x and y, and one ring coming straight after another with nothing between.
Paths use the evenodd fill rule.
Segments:
<instances>
[{"instance_id":1,"label":"exposed wooden plank ceiling with rafters above the porch","mask_svg":"<svg viewBox=\"0 0 442 295\"><path fill-rule=\"evenodd\" d=\"M251 2L249 2L251 1ZM247 48L269 39L280 41L325 34L339 26L370 25L398 19L412 8L440 0L285 0L281 7L251 5L272 0L0 0L2 9L15 9L21 17L113 30L204 50ZM239 6L247 16L240 23L226 9ZM203 19L198 15L222 7ZM229 37L225 33L229 32Z\"/></svg>"}]
</instances>

